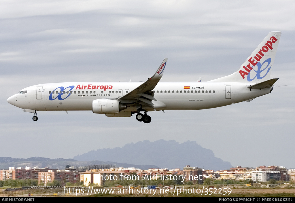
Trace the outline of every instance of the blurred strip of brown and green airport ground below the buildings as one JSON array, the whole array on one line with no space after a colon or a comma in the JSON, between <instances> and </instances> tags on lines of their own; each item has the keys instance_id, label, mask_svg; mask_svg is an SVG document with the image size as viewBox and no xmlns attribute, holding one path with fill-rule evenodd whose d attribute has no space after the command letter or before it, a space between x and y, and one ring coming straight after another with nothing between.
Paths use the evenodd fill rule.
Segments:
<instances>
[{"instance_id":1,"label":"blurred strip of brown and green airport ground below the buildings","mask_svg":"<svg viewBox=\"0 0 295 203\"><path fill-rule=\"evenodd\" d=\"M193 190L194 188L194 190ZM13 190L13 191L5 191L6 189L0 189L0 197L37 197L37 196L77 196L77 197L87 197L87 196L109 196L109 197L295 197L295 188L253 188L253 187L245 187L245 188L235 188L231 186L230 194L219 194L218 190L211 190L210 192L205 192L203 190L203 194L196 190L197 188L202 189L202 187L196 186L185 186L178 187L177 189L184 189L185 192L181 192L181 190L177 189L151 189L151 190L133 190L133 191L124 191L120 188L100 188L100 189L113 189L112 192L108 192L109 190L105 190L105 192L101 192L99 194L91 194L84 192L73 194L64 193L63 189L27 189L27 190ZM208 187L206 187L208 188ZM218 186L215 186L218 188ZM220 187L219 187L220 188ZM222 186L222 188L228 188L227 186ZM209 190L207 190L209 191ZM177 194L178 193L178 194ZM199 193L199 194L197 194Z\"/></svg>"}]
</instances>

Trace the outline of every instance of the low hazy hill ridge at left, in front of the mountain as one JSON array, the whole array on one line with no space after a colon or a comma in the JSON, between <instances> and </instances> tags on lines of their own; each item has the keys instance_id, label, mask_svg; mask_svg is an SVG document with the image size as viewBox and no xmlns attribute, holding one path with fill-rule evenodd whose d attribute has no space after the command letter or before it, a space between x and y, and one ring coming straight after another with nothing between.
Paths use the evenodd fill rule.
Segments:
<instances>
[{"instance_id":1,"label":"low hazy hill ridge at left, in front of the mountain","mask_svg":"<svg viewBox=\"0 0 295 203\"><path fill-rule=\"evenodd\" d=\"M91 165L99 165L99 164L112 164L116 167L134 167L134 168L141 168L141 169L149 169L149 168L159 168L155 165L135 165L129 163L118 163L112 161L76 161L74 159L50 159L44 157L31 157L31 158L11 158L11 157L0 157L0 169L8 169L9 167L39 167L45 168L48 167L49 169L65 169L66 165L70 166L91 166Z\"/></svg>"}]
</instances>

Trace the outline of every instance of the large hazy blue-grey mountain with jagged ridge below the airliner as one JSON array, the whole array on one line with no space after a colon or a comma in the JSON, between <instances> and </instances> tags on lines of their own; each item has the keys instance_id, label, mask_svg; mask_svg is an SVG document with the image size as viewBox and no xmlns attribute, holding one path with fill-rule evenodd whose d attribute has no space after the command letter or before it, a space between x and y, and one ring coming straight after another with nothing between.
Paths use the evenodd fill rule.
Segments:
<instances>
[{"instance_id":1,"label":"large hazy blue-grey mountain with jagged ridge below the airliner","mask_svg":"<svg viewBox=\"0 0 295 203\"><path fill-rule=\"evenodd\" d=\"M202 148L196 141L179 144L175 140L130 143L122 148L92 150L74 157L78 161L116 161L139 165L157 165L160 168L183 168L186 165L222 170L232 168L230 162L216 158L212 150Z\"/></svg>"}]
</instances>

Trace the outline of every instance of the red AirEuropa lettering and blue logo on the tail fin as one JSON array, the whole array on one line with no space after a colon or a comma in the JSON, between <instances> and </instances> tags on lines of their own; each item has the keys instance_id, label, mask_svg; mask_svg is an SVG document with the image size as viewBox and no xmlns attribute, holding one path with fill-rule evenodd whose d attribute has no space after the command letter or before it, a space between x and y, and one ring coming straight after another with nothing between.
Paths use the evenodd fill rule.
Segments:
<instances>
[{"instance_id":1,"label":"red AirEuropa lettering and blue logo on the tail fin","mask_svg":"<svg viewBox=\"0 0 295 203\"><path fill-rule=\"evenodd\" d=\"M263 53L267 53L268 50L272 50L273 49L273 43L276 43L278 39L276 37L271 37L269 38L269 40L265 43L265 45L262 46L262 48L258 51L258 53L252 58L250 57L248 60L248 65L247 66L243 66L243 68L245 69L245 71L240 70L239 73L242 76L243 79L245 79L245 75L248 75L250 73L250 71L253 69L254 66L257 65L258 61L260 61L260 59L264 56ZM267 60L271 60L271 58L268 58ZM268 62L268 61L265 61ZM263 62L264 63L264 62ZM270 62L268 62L269 64ZM260 64L260 63L259 63ZM252 65L252 67L251 67ZM260 64L261 65L261 64ZM260 67L261 68L261 67ZM269 68L270 69L270 68ZM264 70L264 69L263 69ZM263 70L258 70L260 72L262 72ZM258 73L258 71L255 71ZM259 74L260 74L259 72ZM268 72L267 72L268 73ZM267 74L266 73L266 74ZM259 77L259 76L258 76ZM264 77L264 76L263 76ZM260 78L263 78L260 76ZM250 79L249 77L247 78L248 81L252 81L253 79ZM258 78L259 79L259 78Z\"/></svg>"}]
</instances>

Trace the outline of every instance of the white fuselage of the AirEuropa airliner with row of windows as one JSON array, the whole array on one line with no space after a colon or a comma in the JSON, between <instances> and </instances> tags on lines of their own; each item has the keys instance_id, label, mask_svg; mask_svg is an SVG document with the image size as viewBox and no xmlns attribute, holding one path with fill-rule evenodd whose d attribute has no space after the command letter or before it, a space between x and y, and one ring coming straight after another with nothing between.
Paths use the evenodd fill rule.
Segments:
<instances>
[{"instance_id":1,"label":"white fuselage of the AirEuropa airliner with row of windows","mask_svg":"<svg viewBox=\"0 0 295 203\"><path fill-rule=\"evenodd\" d=\"M51 83L22 89L8 102L36 111L88 111L95 99L117 99L140 82ZM153 90L157 110L198 110L230 105L270 93L271 88L249 89L249 83L235 82L159 82ZM161 104L165 106L161 106ZM132 103L132 102L131 102ZM128 107L132 110L133 107ZM160 109L158 109L160 108ZM147 111L154 111L152 108Z\"/></svg>"}]
</instances>

